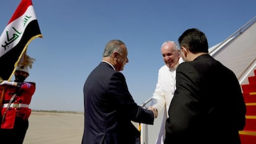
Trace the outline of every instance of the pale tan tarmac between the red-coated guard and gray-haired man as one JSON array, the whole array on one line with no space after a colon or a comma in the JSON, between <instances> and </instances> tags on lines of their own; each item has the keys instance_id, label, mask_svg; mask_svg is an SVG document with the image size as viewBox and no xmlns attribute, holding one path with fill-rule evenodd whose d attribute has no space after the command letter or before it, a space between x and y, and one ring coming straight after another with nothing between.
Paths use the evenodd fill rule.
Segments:
<instances>
[{"instance_id":1,"label":"pale tan tarmac between the red-coated guard and gray-haired man","mask_svg":"<svg viewBox=\"0 0 256 144\"><path fill-rule=\"evenodd\" d=\"M81 144L82 112L33 112L23 144Z\"/></svg>"}]
</instances>

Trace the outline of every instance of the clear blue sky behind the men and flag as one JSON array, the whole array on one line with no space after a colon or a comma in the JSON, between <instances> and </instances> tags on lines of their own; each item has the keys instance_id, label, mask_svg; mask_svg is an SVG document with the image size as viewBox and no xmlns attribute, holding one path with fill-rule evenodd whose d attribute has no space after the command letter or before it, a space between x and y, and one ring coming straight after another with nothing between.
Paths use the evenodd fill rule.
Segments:
<instances>
[{"instance_id":1,"label":"clear blue sky behind the men and flag","mask_svg":"<svg viewBox=\"0 0 256 144\"><path fill-rule=\"evenodd\" d=\"M256 14L255 0L32 2L44 36L27 49L36 59L27 78L36 82L30 104L36 110L83 112L83 83L113 39L126 43L129 63L122 73L135 102L142 104L155 90L158 69L164 64L160 52L164 41L177 41L188 28L198 28L207 35L210 48ZM19 3L1 1L1 33Z\"/></svg>"}]
</instances>

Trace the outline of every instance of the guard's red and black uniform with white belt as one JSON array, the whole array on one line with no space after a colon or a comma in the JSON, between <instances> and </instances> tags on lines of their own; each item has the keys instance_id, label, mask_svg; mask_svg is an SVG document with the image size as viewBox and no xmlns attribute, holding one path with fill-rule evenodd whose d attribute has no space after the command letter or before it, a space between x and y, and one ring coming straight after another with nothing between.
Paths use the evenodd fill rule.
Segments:
<instances>
[{"instance_id":1,"label":"guard's red and black uniform with white belt","mask_svg":"<svg viewBox=\"0 0 256 144\"><path fill-rule=\"evenodd\" d=\"M14 140L17 140L17 143L22 143L28 129L28 117L31 114L28 104L35 93L35 83L18 82L16 87L0 85L0 96L2 96L4 88L6 90L1 110L1 120L3 121L0 129L0 143L2 140L6 140L5 143L12 143ZM12 96L13 100L11 100Z\"/></svg>"}]
</instances>

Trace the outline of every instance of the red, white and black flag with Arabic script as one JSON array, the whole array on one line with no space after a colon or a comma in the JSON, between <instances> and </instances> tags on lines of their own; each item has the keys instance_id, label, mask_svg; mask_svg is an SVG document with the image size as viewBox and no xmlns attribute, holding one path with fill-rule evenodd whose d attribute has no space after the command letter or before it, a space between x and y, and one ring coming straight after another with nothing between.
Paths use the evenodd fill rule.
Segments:
<instances>
[{"instance_id":1,"label":"red, white and black flag with Arabic script","mask_svg":"<svg viewBox=\"0 0 256 144\"><path fill-rule=\"evenodd\" d=\"M43 37L32 0L22 0L0 37L0 82L10 80L28 44Z\"/></svg>"}]
</instances>

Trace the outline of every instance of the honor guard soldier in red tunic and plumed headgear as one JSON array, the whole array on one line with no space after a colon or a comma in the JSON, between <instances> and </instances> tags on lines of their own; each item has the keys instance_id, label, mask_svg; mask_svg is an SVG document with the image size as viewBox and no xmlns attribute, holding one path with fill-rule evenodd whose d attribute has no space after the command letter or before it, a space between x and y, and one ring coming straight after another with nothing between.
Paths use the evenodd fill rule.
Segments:
<instances>
[{"instance_id":1,"label":"honor guard soldier in red tunic and plumed headgear","mask_svg":"<svg viewBox=\"0 0 256 144\"><path fill-rule=\"evenodd\" d=\"M0 143L22 144L28 129L28 108L35 93L35 83L24 82L28 77L28 67L32 68L35 59L26 55L25 62L15 70L14 82L0 83L0 96L4 96L1 108Z\"/></svg>"}]
</instances>

